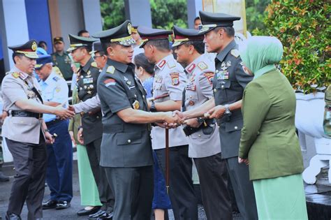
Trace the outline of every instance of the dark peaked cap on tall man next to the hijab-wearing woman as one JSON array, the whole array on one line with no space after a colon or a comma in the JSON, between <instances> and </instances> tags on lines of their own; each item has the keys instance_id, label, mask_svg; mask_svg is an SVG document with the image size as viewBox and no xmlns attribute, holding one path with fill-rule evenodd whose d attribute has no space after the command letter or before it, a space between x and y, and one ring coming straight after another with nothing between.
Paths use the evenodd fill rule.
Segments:
<instances>
[{"instance_id":1,"label":"dark peaked cap on tall man next to the hijab-wearing woman","mask_svg":"<svg viewBox=\"0 0 331 220\"><path fill-rule=\"evenodd\" d=\"M200 33L206 34L216 27L233 27L233 22L240 20L240 17L228 15L225 13L209 13L199 11L201 22Z\"/></svg>"}]
</instances>

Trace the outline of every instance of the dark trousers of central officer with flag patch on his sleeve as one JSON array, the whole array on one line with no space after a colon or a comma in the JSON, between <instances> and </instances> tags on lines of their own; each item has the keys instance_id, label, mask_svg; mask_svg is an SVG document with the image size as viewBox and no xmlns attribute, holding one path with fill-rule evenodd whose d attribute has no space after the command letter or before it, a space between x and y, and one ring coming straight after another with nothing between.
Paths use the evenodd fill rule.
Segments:
<instances>
[{"instance_id":1,"label":"dark trousers of central officer with flag patch on his sleeve","mask_svg":"<svg viewBox=\"0 0 331 220\"><path fill-rule=\"evenodd\" d=\"M115 193L116 220L150 219L154 192L153 166L105 168Z\"/></svg>"}]
</instances>

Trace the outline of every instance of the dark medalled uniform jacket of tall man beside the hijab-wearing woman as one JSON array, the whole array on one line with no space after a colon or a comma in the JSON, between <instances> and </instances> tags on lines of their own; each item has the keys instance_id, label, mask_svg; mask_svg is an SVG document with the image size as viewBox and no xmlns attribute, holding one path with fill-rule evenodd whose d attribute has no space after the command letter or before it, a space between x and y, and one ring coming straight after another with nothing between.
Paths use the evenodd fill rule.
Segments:
<instances>
[{"instance_id":1,"label":"dark medalled uniform jacket of tall man beside the hijab-wearing woman","mask_svg":"<svg viewBox=\"0 0 331 220\"><path fill-rule=\"evenodd\" d=\"M246 85L253 76L244 72L242 59L233 40L215 58L216 71L213 80L215 105L235 103L242 99ZM230 120L222 117L219 135L223 158L238 156L240 131L242 129L242 112L235 110Z\"/></svg>"}]
</instances>

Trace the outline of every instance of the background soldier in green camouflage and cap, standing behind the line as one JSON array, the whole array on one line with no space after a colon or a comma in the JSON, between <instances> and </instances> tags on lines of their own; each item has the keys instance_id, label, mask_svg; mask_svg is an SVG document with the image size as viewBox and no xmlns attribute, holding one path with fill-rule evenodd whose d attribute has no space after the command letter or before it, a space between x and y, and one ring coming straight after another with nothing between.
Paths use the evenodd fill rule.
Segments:
<instances>
[{"instance_id":1,"label":"background soldier in green camouflage and cap, standing behind the line","mask_svg":"<svg viewBox=\"0 0 331 220\"><path fill-rule=\"evenodd\" d=\"M69 54L64 50L64 38L54 38L53 44L55 49L55 52L52 53L53 65L60 69L65 80L71 80L73 77L73 70L71 68Z\"/></svg>"}]
</instances>

